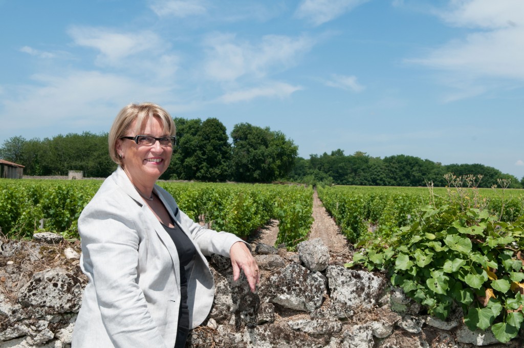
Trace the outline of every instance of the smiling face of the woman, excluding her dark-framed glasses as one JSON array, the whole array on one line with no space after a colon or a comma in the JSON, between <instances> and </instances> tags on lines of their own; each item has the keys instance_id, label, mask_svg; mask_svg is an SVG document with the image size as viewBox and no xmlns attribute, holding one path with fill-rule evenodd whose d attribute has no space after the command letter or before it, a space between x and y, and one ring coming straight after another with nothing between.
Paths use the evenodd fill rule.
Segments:
<instances>
[{"instance_id":1,"label":"smiling face of the woman, excluding her dark-framed glasses","mask_svg":"<svg viewBox=\"0 0 524 348\"><path fill-rule=\"evenodd\" d=\"M158 117L146 119L137 134L133 134L135 129L136 120L130 124L126 136L134 137L140 134L161 138L171 135L163 129ZM122 167L136 187L152 186L166 171L173 153L171 146L161 146L158 141L147 146L138 145L131 139L117 139L116 150L119 155L123 155Z\"/></svg>"}]
</instances>

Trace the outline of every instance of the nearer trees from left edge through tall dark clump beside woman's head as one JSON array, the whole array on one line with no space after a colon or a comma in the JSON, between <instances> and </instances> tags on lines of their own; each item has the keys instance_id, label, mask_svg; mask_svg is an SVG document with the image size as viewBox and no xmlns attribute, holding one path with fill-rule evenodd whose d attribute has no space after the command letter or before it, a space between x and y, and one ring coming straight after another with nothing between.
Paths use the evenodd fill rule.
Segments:
<instances>
[{"instance_id":1,"label":"nearer trees from left edge through tall dark clump beside woman's head","mask_svg":"<svg viewBox=\"0 0 524 348\"><path fill-rule=\"evenodd\" d=\"M174 118L177 145L160 179L271 182L285 178L298 146L282 132L239 123L231 132L216 118ZM108 155L107 133L70 133L52 138L5 140L0 158L25 166L24 175L64 176L81 170L85 177L105 178L116 164Z\"/></svg>"}]
</instances>

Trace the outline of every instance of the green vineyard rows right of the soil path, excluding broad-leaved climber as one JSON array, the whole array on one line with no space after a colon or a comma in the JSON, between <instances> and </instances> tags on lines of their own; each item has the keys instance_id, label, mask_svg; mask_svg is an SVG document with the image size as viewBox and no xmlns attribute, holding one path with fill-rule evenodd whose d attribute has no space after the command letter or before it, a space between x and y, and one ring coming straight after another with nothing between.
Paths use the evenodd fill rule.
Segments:
<instances>
[{"instance_id":1,"label":"green vineyard rows right of the soil path, excluding broad-leaved climber","mask_svg":"<svg viewBox=\"0 0 524 348\"><path fill-rule=\"evenodd\" d=\"M504 222L524 215L524 192L515 189L335 186L318 188L319 198L342 234L353 244L387 238L415 221L426 205L460 199L462 206L486 209Z\"/></svg>"}]
</instances>

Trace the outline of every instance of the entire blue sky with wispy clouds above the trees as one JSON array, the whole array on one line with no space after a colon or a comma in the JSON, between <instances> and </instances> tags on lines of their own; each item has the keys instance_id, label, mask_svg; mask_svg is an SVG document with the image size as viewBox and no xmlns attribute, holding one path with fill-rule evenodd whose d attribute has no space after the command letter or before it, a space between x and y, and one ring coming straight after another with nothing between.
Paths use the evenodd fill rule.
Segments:
<instances>
[{"instance_id":1,"label":"entire blue sky with wispy clouds above the trees","mask_svg":"<svg viewBox=\"0 0 524 348\"><path fill-rule=\"evenodd\" d=\"M173 117L524 176L524 1L0 0L0 144Z\"/></svg>"}]
</instances>

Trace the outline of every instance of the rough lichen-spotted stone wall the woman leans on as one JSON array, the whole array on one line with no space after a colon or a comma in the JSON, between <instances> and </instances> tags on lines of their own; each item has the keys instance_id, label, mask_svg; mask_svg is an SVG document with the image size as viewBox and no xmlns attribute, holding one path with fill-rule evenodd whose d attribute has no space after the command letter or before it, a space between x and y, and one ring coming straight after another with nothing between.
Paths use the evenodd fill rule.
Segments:
<instances>
[{"instance_id":1,"label":"rough lichen-spotted stone wall the woman leans on","mask_svg":"<svg viewBox=\"0 0 524 348\"><path fill-rule=\"evenodd\" d=\"M0 242L0 348L70 346L86 284L80 245L36 237ZM233 281L230 260L209 259L215 301L188 347L522 346L521 338L501 344L489 331L469 331L460 312L447 321L424 315L383 274L344 268L347 255L330 254L320 239L301 243L297 253L258 244L254 254L261 269L256 293L244 277Z\"/></svg>"}]
</instances>

